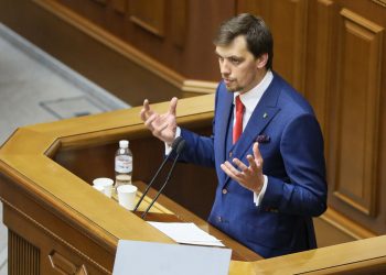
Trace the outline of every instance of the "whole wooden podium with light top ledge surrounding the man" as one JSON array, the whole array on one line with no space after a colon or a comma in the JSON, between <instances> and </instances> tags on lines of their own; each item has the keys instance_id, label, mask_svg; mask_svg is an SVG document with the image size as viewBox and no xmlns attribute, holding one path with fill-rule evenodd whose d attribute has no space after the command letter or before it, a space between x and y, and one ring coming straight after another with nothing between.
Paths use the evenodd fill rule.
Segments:
<instances>
[{"instance_id":1,"label":"whole wooden podium with light top ledge surrounding the man","mask_svg":"<svg viewBox=\"0 0 386 275\"><path fill-rule=\"evenodd\" d=\"M213 106L213 95L180 100L179 124L211 133ZM153 106L158 111L168 107ZM24 127L2 145L0 199L9 229L9 274L111 274L118 240L173 243L90 186L93 178L114 176L114 153L122 139L133 152L135 185L143 190L150 180L164 148L143 127L140 109ZM233 250L229 274L386 271L386 237L261 260L204 221L215 186L212 169L179 164L149 219L192 221L223 240Z\"/></svg>"}]
</instances>

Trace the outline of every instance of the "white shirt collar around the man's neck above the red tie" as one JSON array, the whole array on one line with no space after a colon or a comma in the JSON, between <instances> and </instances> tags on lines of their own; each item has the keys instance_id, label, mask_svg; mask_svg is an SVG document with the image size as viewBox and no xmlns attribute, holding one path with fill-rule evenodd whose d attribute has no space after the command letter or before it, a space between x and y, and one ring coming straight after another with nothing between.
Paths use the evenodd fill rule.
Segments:
<instances>
[{"instance_id":1,"label":"white shirt collar around the man's neck above the red tie","mask_svg":"<svg viewBox=\"0 0 386 275\"><path fill-rule=\"evenodd\" d=\"M238 91L236 91L234 94L234 101L233 102L235 103L236 97L239 95L240 100L242 100L243 105L245 106L246 111L253 112L253 110L256 108L256 106L260 101L262 94L267 90L267 88L270 85L270 82L272 81L272 79L274 79L272 72L267 70L267 73L264 76L264 78L261 79L261 81L258 85L256 85L254 88L251 88L249 91L242 94L242 95Z\"/></svg>"}]
</instances>

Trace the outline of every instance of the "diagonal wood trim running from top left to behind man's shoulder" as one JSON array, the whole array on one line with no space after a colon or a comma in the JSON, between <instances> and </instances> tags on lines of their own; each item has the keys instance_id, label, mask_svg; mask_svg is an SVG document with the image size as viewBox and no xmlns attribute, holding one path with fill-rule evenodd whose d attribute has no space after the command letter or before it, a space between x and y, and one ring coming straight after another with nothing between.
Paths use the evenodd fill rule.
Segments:
<instances>
[{"instance_id":1,"label":"diagonal wood trim running from top left to behind man's shoulder","mask_svg":"<svg viewBox=\"0 0 386 275\"><path fill-rule=\"evenodd\" d=\"M56 1L50 1L50 0L32 0L32 1L37 6L42 7L43 9L45 9L46 11L55 14L63 21L67 22L68 24L73 25L74 28L78 29L79 31L84 32L88 36L93 37L94 40L100 42L107 47L121 54L122 56L125 56L125 58L151 72L152 74L157 75L161 79L165 80L167 82L179 88L182 91L199 92L199 94L203 94L203 92L210 94L215 91L215 88L213 88L216 86L215 82L186 79L184 76L168 68L161 63L154 61L153 58L138 51L133 46L117 38L112 34L105 31L104 29L97 26L96 24L93 24L85 18L76 14L71 9L60 4ZM208 87L212 87L213 89Z\"/></svg>"}]
</instances>

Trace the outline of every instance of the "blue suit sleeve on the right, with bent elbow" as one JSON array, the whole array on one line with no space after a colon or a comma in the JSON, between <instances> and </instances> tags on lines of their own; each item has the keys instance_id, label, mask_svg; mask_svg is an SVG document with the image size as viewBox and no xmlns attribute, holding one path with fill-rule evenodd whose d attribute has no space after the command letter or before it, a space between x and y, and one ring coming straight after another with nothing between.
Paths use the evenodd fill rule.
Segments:
<instances>
[{"instance_id":1,"label":"blue suit sleeve on the right, with bent elbow","mask_svg":"<svg viewBox=\"0 0 386 275\"><path fill-rule=\"evenodd\" d=\"M303 114L283 130L280 152L289 180L270 177L260 207L318 217L326 209L323 138L317 119Z\"/></svg>"}]
</instances>

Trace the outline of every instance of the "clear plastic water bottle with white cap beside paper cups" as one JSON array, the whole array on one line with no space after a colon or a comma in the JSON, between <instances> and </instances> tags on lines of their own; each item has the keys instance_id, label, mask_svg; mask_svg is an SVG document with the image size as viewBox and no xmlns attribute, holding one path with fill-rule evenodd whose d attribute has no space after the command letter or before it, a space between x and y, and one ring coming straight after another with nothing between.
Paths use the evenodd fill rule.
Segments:
<instances>
[{"instance_id":1,"label":"clear plastic water bottle with white cap beside paper cups","mask_svg":"<svg viewBox=\"0 0 386 275\"><path fill-rule=\"evenodd\" d=\"M129 141L119 141L119 148L115 157L115 172L116 189L120 185L131 184L132 153L129 148Z\"/></svg>"}]
</instances>

